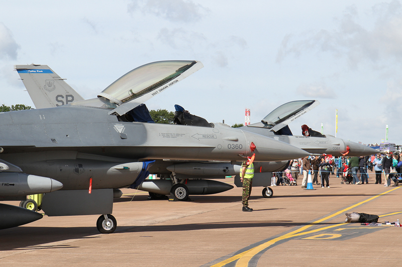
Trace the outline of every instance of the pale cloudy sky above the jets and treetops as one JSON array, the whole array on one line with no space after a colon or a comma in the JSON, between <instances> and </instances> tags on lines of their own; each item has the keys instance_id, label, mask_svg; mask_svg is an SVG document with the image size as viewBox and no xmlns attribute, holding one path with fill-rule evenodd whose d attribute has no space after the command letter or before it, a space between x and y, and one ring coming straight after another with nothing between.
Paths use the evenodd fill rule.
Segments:
<instances>
[{"instance_id":1,"label":"pale cloudy sky above the jets and treetops","mask_svg":"<svg viewBox=\"0 0 402 267\"><path fill-rule=\"evenodd\" d=\"M230 3L230 4L228 4ZM48 65L85 99L163 60L204 68L158 94L209 122L261 121L295 100L321 104L289 124L402 145L402 3L328 1L2 1L0 105L34 107L14 65ZM336 133L336 110L338 132Z\"/></svg>"}]
</instances>

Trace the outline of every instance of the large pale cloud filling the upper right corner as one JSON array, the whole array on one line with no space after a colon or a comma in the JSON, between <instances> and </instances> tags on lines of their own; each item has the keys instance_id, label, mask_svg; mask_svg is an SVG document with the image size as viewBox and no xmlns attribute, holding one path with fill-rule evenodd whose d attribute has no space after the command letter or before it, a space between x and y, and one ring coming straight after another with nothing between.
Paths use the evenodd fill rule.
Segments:
<instances>
[{"instance_id":1,"label":"large pale cloud filling the upper right corner","mask_svg":"<svg viewBox=\"0 0 402 267\"><path fill-rule=\"evenodd\" d=\"M345 10L337 19L334 30L322 29L295 35L286 35L276 56L282 62L287 56L299 57L307 51L331 52L336 58L346 58L349 67L355 69L361 63L370 62L374 68L386 68L386 62L402 61L402 7L399 1L375 5L367 23L359 23L357 8Z\"/></svg>"}]
</instances>

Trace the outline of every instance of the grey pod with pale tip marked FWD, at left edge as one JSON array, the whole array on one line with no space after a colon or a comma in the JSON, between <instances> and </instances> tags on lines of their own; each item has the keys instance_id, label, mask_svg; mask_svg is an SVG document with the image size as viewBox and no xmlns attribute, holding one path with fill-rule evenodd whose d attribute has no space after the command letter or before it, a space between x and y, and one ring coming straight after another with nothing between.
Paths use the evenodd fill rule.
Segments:
<instances>
[{"instance_id":1,"label":"grey pod with pale tip marked FWD, at left edge","mask_svg":"<svg viewBox=\"0 0 402 267\"><path fill-rule=\"evenodd\" d=\"M49 193L63 187L59 181L48 177L21 172L0 172L1 196L24 196Z\"/></svg>"}]
</instances>

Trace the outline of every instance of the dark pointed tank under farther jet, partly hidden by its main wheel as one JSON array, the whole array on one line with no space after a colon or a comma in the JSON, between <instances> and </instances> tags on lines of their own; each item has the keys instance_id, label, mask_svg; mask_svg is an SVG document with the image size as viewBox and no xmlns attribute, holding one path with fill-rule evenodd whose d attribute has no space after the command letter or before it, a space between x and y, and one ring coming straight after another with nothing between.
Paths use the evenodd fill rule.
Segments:
<instances>
[{"instance_id":1,"label":"dark pointed tank under farther jet, partly hidden by its main wheel","mask_svg":"<svg viewBox=\"0 0 402 267\"><path fill-rule=\"evenodd\" d=\"M190 195L217 194L233 188L233 185L208 179L187 179L184 184L187 186ZM138 186L139 190L161 195L170 194L171 188L172 182L168 179L145 180Z\"/></svg>"}]
</instances>

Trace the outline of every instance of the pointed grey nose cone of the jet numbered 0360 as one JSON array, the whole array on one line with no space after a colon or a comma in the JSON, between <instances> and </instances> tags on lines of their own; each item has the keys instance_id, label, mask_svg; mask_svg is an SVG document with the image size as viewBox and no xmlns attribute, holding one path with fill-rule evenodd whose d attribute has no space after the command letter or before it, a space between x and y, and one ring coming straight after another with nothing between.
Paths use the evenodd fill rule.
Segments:
<instances>
[{"instance_id":1,"label":"pointed grey nose cone of the jet numbered 0360","mask_svg":"<svg viewBox=\"0 0 402 267\"><path fill-rule=\"evenodd\" d=\"M244 134L247 140L253 142L256 146L256 161L282 161L302 158L310 155L309 152L303 149L275 140L273 138L253 134L250 132L244 132Z\"/></svg>"}]
</instances>

